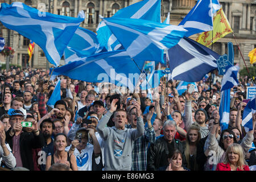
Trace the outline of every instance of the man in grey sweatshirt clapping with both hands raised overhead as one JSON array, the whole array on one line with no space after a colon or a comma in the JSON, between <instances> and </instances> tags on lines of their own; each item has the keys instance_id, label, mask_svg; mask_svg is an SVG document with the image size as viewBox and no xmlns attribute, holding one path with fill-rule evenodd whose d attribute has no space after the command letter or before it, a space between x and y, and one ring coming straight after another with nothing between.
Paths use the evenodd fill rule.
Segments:
<instances>
[{"instance_id":1,"label":"man in grey sweatshirt clapping with both hands raised overhead","mask_svg":"<svg viewBox=\"0 0 256 182\"><path fill-rule=\"evenodd\" d=\"M117 110L118 99L111 103L108 113L101 118L97 125L98 133L105 140L104 159L105 171L130 171L131 170L131 151L133 150L134 140L141 137L144 133L144 123L141 117L141 107L137 101L133 102L136 107L137 129L127 129L126 111ZM106 127L110 117L114 114L113 122L115 126Z\"/></svg>"}]
</instances>

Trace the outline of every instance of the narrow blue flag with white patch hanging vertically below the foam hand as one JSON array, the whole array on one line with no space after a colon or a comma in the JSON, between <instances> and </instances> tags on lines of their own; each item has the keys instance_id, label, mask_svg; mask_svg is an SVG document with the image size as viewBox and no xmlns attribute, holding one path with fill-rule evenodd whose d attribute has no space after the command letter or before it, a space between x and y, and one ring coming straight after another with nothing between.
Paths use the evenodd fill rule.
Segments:
<instances>
[{"instance_id":1,"label":"narrow blue flag with white patch hanging vertically below the foam hand","mask_svg":"<svg viewBox=\"0 0 256 182\"><path fill-rule=\"evenodd\" d=\"M221 131L228 129L230 113L230 89L226 89L221 92L221 101L218 112L220 114Z\"/></svg>"}]
</instances>

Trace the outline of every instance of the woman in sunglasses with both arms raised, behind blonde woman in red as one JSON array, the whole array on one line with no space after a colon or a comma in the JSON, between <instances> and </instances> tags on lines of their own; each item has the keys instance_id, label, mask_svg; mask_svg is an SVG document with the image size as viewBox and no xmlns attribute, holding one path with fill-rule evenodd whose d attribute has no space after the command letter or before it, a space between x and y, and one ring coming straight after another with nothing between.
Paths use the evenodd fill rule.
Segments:
<instances>
[{"instance_id":1,"label":"woman in sunglasses with both arms raised, behind blonde woman in red","mask_svg":"<svg viewBox=\"0 0 256 182\"><path fill-rule=\"evenodd\" d=\"M237 143L236 135L230 129L223 130L220 135L220 142L217 141L215 137L215 132L219 123L220 115L214 116L214 122L212 129L209 133L209 147L210 153L213 155L213 170L216 169L218 163L222 163L225 160L226 150L227 148L233 144ZM254 126L256 122L256 114L253 115L253 130L248 131L245 137L242 139L240 145L243 149L243 152L246 154L251 148L251 142L253 142L253 132Z\"/></svg>"}]
</instances>

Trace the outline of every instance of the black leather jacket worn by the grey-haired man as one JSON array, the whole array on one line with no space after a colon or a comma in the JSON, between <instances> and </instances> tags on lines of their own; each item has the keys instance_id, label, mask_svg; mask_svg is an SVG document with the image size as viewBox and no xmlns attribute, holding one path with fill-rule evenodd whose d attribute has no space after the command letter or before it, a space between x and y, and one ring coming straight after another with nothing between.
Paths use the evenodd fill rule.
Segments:
<instances>
[{"instance_id":1,"label":"black leather jacket worn by the grey-haired man","mask_svg":"<svg viewBox=\"0 0 256 182\"><path fill-rule=\"evenodd\" d=\"M180 142L178 139L174 139L174 148L179 150L182 154L182 163L183 167L187 167L187 162L185 159L185 143ZM164 139L164 137L161 137L156 140L156 142L153 144L150 144L150 148L147 153L147 170L148 171L156 171L159 170L160 167L166 166L160 164L160 160L162 156L167 156L169 154L168 147L167 147L167 141ZM166 159L166 164L168 164L168 160ZM163 162L161 162L163 163Z\"/></svg>"}]
</instances>

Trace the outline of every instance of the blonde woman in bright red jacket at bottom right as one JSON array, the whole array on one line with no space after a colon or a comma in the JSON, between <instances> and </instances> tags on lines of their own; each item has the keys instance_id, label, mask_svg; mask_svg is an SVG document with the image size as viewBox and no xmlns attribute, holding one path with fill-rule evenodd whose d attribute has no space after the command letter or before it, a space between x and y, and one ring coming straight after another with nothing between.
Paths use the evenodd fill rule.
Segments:
<instances>
[{"instance_id":1,"label":"blonde woman in bright red jacket at bottom right","mask_svg":"<svg viewBox=\"0 0 256 182\"><path fill-rule=\"evenodd\" d=\"M240 144L230 144L225 157L223 163L217 164L216 171L250 171L249 166L245 164L245 155Z\"/></svg>"}]
</instances>

